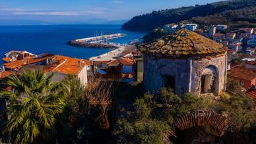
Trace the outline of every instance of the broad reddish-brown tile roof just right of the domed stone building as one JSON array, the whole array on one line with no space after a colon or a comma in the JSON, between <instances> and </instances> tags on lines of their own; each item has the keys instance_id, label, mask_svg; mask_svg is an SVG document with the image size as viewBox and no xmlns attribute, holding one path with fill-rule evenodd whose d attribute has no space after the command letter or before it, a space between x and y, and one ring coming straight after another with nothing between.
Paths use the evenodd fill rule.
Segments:
<instances>
[{"instance_id":1,"label":"broad reddish-brown tile roof just right of the domed stone building","mask_svg":"<svg viewBox=\"0 0 256 144\"><path fill-rule=\"evenodd\" d=\"M236 66L235 68L232 68L231 70L228 71L230 76L234 78L240 78L242 80L253 80L256 78L256 71L249 69L249 68L244 68L243 66Z\"/></svg>"}]
</instances>

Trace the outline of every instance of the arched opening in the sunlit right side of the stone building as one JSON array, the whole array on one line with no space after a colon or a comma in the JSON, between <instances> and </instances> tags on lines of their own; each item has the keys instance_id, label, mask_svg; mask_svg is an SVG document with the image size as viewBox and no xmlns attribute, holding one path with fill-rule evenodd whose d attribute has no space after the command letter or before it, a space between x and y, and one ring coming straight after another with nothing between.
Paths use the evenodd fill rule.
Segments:
<instances>
[{"instance_id":1,"label":"arched opening in the sunlit right side of the stone building","mask_svg":"<svg viewBox=\"0 0 256 144\"><path fill-rule=\"evenodd\" d=\"M215 66L207 66L201 74L201 94L218 94L218 70Z\"/></svg>"}]
</instances>

